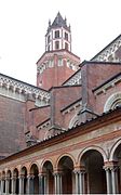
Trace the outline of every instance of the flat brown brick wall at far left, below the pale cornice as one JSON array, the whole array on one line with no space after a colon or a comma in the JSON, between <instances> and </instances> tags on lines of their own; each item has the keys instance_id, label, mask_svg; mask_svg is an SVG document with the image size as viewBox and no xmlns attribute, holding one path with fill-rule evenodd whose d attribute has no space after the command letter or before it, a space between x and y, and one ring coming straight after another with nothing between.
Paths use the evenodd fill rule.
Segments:
<instances>
[{"instance_id":1,"label":"flat brown brick wall at far left, below the pale cornice","mask_svg":"<svg viewBox=\"0 0 121 195\"><path fill-rule=\"evenodd\" d=\"M0 95L0 156L26 147L25 103Z\"/></svg>"}]
</instances>

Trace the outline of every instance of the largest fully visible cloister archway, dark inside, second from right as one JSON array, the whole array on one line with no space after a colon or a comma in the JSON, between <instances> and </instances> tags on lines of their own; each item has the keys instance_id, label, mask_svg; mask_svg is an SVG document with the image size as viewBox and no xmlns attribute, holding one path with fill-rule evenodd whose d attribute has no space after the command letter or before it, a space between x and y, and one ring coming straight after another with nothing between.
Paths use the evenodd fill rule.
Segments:
<instances>
[{"instance_id":1,"label":"largest fully visible cloister archway, dark inside, second from right","mask_svg":"<svg viewBox=\"0 0 121 195\"><path fill-rule=\"evenodd\" d=\"M86 147L80 153L80 171L83 173L82 183L85 194L107 193L104 159L107 159L106 153L98 146Z\"/></svg>"}]
</instances>

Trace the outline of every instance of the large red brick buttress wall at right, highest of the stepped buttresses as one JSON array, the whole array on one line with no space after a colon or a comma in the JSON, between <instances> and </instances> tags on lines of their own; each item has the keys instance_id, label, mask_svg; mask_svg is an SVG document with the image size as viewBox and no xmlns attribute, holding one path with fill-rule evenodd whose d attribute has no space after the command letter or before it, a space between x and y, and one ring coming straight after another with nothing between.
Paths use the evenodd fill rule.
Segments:
<instances>
[{"instance_id":1,"label":"large red brick buttress wall at right, highest of the stepped buttresses","mask_svg":"<svg viewBox=\"0 0 121 195\"><path fill-rule=\"evenodd\" d=\"M96 112L99 112L97 107L95 108L95 98L92 90L112 76L121 72L121 65L112 64L85 64L82 67L82 102L88 103L88 106Z\"/></svg>"}]
</instances>

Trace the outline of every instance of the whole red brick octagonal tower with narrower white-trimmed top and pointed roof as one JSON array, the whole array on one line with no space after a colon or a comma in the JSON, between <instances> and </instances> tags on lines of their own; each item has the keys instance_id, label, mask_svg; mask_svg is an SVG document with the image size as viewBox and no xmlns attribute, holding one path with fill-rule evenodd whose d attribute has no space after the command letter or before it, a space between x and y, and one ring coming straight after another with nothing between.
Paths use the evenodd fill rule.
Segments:
<instances>
[{"instance_id":1,"label":"whole red brick octagonal tower with narrower white-trimmed top and pointed roof","mask_svg":"<svg viewBox=\"0 0 121 195\"><path fill-rule=\"evenodd\" d=\"M37 62L37 87L62 86L78 70L80 57L71 52L71 30L58 12L45 35L45 52Z\"/></svg>"}]
</instances>

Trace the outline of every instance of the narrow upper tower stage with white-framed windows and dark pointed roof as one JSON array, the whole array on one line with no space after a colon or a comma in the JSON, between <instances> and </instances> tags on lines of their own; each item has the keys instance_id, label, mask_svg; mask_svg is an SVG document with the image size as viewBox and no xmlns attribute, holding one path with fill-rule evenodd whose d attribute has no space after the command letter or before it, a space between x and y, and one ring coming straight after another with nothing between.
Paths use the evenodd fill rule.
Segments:
<instances>
[{"instance_id":1,"label":"narrow upper tower stage with white-framed windows and dark pointed roof","mask_svg":"<svg viewBox=\"0 0 121 195\"><path fill-rule=\"evenodd\" d=\"M58 12L52 24L49 21L45 35L45 51L63 49L71 51L71 32L70 26L67 26L67 18L63 18Z\"/></svg>"}]
</instances>

